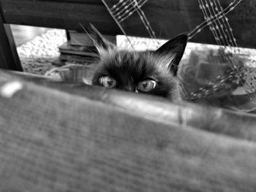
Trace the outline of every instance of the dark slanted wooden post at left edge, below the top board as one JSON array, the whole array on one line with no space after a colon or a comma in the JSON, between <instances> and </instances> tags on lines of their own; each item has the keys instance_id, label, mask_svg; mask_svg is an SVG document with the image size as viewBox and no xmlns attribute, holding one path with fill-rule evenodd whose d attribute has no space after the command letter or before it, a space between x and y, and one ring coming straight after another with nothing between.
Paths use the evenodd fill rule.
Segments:
<instances>
[{"instance_id":1,"label":"dark slanted wooden post at left edge, below the top board","mask_svg":"<svg viewBox=\"0 0 256 192\"><path fill-rule=\"evenodd\" d=\"M9 25L4 25L0 15L0 68L23 71L16 50L12 31Z\"/></svg>"}]
</instances>

